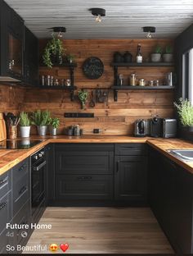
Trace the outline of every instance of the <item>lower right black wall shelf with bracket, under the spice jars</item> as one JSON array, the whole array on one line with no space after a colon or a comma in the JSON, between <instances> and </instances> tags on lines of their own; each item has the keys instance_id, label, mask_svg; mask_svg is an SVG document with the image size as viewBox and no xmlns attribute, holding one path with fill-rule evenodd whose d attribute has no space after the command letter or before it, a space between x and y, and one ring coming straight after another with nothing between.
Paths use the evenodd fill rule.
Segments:
<instances>
[{"instance_id":1,"label":"lower right black wall shelf with bracket, under the spice jars","mask_svg":"<svg viewBox=\"0 0 193 256\"><path fill-rule=\"evenodd\" d=\"M152 90L152 89L174 89L173 86L168 85L159 85L159 86L112 86L111 89L114 90L114 101L117 102L118 100L118 91L121 89L130 89L130 90Z\"/></svg>"}]
</instances>

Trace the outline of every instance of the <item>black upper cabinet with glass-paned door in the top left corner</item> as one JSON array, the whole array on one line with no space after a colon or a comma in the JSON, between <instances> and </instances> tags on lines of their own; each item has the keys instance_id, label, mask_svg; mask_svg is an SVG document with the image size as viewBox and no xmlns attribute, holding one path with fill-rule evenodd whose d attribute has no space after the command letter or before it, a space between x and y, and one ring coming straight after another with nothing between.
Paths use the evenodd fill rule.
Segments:
<instances>
[{"instance_id":1,"label":"black upper cabinet with glass-paned door in the top left corner","mask_svg":"<svg viewBox=\"0 0 193 256\"><path fill-rule=\"evenodd\" d=\"M1 80L22 80L24 75L24 21L7 5L0 2Z\"/></svg>"}]
</instances>

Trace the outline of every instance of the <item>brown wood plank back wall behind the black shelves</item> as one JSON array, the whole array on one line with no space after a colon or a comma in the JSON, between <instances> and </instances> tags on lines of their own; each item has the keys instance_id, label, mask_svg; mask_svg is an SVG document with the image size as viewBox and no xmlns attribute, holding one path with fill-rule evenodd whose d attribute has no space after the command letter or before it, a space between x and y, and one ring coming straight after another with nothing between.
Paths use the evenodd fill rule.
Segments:
<instances>
[{"instance_id":1,"label":"brown wood plank back wall behind the black shelves","mask_svg":"<svg viewBox=\"0 0 193 256\"><path fill-rule=\"evenodd\" d=\"M46 40L40 41L40 54L46 42ZM135 59L137 43L141 43L142 55L144 60L147 60L156 44L159 43L159 45L164 47L166 44L173 43L173 41L168 39L66 39L64 43L67 53L74 54L78 63L74 75L74 84L78 88L89 88L88 91L90 93L91 89L97 87L110 88L113 85L114 73L110 63L113 61L114 52L124 53L129 51ZM88 57L100 57L104 63L104 75L98 80L88 80L83 75L83 62ZM171 67L131 67L121 68L119 73L124 75L125 84L128 85L128 77L132 72L135 72L138 78L164 81L165 74L168 71L172 71ZM54 75L61 80L62 78L69 78L69 71L64 68L48 70L40 66L40 75ZM21 95L18 97L20 98ZM22 106L20 100L17 106L18 109ZM94 108L89 107L87 103L86 109L81 110L78 100L75 100L73 103L70 101L69 92L28 88L25 89L22 109L27 112L36 109L48 109L52 112L53 117L61 119L60 134L63 133L65 127L79 124L83 128L84 134L92 134L94 128L100 128L103 134L132 135L133 122L137 118L150 118L155 114L158 114L160 117L173 117L173 91L124 90L119 92L118 102L115 103L113 92L110 90L107 103L96 103ZM95 117L65 118L65 112L93 112ZM35 134L36 130L33 129L32 131Z\"/></svg>"}]
</instances>

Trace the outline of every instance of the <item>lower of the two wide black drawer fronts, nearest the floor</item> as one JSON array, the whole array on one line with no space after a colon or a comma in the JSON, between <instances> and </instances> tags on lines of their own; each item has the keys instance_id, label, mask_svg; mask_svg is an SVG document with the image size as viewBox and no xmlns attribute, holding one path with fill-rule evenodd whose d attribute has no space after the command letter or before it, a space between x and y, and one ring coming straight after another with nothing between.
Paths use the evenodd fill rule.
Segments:
<instances>
[{"instance_id":1,"label":"lower of the two wide black drawer fronts, nearest the floor","mask_svg":"<svg viewBox=\"0 0 193 256\"><path fill-rule=\"evenodd\" d=\"M56 176L56 199L113 199L111 175Z\"/></svg>"}]
</instances>

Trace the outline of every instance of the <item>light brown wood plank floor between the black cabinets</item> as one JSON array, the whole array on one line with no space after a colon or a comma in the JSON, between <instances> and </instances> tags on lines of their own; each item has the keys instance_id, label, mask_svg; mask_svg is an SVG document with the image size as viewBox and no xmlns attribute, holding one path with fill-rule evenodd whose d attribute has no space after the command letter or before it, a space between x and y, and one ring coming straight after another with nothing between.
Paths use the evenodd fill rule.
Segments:
<instances>
[{"instance_id":1,"label":"light brown wood plank floor between the black cabinets","mask_svg":"<svg viewBox=\"0 0 193 256\"><path fill-rule=\"evenodd\" d=\"M52 230L34 231L28 245L68 243L66 254L173 254L150 208L47 208L39 224Z\"/></svg>"}]
</instances>

